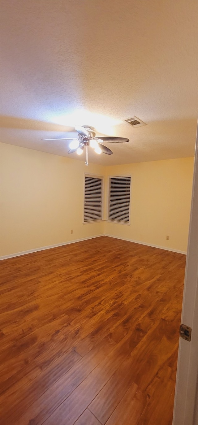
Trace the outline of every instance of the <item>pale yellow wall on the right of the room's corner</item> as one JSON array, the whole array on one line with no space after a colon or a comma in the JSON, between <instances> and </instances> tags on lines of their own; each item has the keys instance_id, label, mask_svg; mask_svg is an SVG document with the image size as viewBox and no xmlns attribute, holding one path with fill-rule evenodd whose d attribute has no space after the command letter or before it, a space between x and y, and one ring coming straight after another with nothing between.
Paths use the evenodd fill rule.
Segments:
<instances>
[{"instance_id":1,"label":"pale yellow wall on the right of the room's corner","mask_svg":"<svg viewBox=\"0 0 198 425\"><path fill-rule=\"evenodd\" d=\"M186 252L193 162L182 158L106 167L107 178L131 176L131 224L106 222L105 234Z\"/></svg>"}]
</instances>

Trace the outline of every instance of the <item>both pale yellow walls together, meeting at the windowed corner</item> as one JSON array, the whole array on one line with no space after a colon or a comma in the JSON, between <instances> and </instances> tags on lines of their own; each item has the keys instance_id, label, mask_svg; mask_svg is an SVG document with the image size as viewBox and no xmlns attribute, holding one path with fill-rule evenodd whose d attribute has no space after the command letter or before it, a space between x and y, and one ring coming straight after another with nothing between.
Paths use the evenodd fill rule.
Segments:
<instances>
[{"instance_id":1,"label":"both pale yellow walls together, meeting at the windowed corner","mask_svg":"<svg viewBox=\"0 0 198 425\"><path fill-rule=\"evenodd\" d=\"M0 153L1 256L104 233L187 250L193 158L86 167L83 161L3 143ZM130 225L82 224L84 173L106 174L106 182L108 176L131 175Z\"/></svg>"}]
</instances>

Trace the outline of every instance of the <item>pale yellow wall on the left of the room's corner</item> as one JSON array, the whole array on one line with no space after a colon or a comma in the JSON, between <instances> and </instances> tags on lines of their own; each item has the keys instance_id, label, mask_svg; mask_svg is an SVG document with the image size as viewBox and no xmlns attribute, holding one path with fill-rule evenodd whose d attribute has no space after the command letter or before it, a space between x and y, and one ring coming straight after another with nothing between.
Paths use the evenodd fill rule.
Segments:
<instances>
[{"instance_id":1,"label":"pale yellow wall on the left of the room's corner","mask_svg":"<svg viewBox=\"0 0 198 425\"><path fill-rule=\"evenodd\" d=\"M84 173L105 167L4 143L0 158L0 255L103 234L82 217Z\"/></svg>"}]
</instances>

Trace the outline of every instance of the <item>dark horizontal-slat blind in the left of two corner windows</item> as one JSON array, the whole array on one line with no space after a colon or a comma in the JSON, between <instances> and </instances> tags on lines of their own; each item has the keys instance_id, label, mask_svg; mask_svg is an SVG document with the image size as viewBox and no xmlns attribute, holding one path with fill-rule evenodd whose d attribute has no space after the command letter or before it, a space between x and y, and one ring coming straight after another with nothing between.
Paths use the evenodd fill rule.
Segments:
<instances>
[{"instance_id":1,"label":"dark horizontal-slat blind in the left of two corner windows","mask_svg":"<svg viewBox=\"0 0 198 425\"><path fill-rule=\"evenodd\" d=\"M102 180L85 176L84 222L102 220Z\"/></svg>"}]
</instances>

